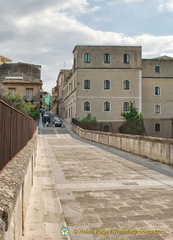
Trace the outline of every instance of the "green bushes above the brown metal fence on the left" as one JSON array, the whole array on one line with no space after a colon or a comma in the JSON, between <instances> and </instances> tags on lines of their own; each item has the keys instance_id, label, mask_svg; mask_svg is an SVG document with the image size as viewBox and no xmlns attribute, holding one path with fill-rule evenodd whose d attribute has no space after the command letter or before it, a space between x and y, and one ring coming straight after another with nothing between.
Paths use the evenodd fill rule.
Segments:
<instances>
[{"instance_id":1,"label":"green bushes above the brown metal fence on the left","mask_svg":"<svg viewBox=\"0 0 173 240\"><path fill-rule=\"evenodd\" d=\"M26 103L19 94L3 93L3 98L9 100L14 107L26 113L34 120L37 120L39 118L38 107L31 104L30 102Z\"/></svg>"}]
</instances>

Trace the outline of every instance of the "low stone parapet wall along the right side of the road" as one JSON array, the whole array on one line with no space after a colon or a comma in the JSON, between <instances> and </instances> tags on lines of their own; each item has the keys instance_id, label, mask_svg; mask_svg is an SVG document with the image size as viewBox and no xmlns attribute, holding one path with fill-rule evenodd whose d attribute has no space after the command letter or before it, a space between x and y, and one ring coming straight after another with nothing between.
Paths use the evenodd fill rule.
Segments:
<instances>
[{"instance_id":1,"label":"low stone parapet wall along the right side of the road","mask_svg":"<svg viewBox=\"0 0 173 240\"><path fill-rule=\"evenodd\" d=\"M73 130L87 140L115 147L173 166L173 140L128 134L89 131L73 124Z\"/></svg>"}]
</instances>

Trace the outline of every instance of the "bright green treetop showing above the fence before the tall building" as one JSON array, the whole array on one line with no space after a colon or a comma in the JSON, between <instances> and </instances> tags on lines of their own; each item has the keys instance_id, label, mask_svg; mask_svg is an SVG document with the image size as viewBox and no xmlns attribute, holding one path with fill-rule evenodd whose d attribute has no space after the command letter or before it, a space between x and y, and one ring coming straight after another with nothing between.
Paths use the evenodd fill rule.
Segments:
<instances>
[{"instance_id":1,"label":"bright green treetop showing above the fence before the tall building","mask_svg":"<svg viewBox=\"0 0 173 240\"><path fill-rule=\"evenodd\" d=\"M122 112L121 116L126 119L126 121L139 121L143 119L142 113L139 113L137 108L133 106L133 103L130 102L129 112Z\"/></svg>"}]
</instances>

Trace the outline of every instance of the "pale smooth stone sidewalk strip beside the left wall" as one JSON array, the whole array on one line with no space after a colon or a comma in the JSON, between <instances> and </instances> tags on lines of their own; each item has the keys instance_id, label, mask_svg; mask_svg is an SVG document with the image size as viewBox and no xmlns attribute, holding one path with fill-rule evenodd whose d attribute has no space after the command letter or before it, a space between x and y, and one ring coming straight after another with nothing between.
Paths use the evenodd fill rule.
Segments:
<instances>
[{"instance_id":1,"label":"pale smooth stone sidewalk strip beside the left wall","mask_svg":"<svg viewBox=\"0 0 173 240\"><path fill-rule=\"evenodd\" d=\"M42 127L42 122L39 122ZM22 240L70 240L60 234L66 226L49 158L41 135L38 137L37 163L29 199Z\"/></svg>"}]
</instances>

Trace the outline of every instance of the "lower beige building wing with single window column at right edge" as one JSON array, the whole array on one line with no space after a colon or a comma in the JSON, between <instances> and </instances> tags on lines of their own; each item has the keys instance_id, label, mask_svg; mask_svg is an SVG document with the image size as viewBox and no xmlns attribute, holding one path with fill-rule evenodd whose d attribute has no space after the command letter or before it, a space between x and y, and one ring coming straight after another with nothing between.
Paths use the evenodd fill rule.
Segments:
<instances>
[{"instance_id":1,"label":"lower beige building wing with single window column at right edge","mask_svg":"<svg viewBox=\"0 0 173 240\"><path fill-rule=\"evenodd\" d=\"M152 136L173 137L173 58L142 59L142 113Z\"/></svg>"}]
</instances>

